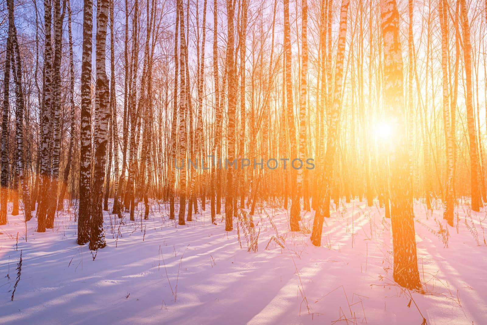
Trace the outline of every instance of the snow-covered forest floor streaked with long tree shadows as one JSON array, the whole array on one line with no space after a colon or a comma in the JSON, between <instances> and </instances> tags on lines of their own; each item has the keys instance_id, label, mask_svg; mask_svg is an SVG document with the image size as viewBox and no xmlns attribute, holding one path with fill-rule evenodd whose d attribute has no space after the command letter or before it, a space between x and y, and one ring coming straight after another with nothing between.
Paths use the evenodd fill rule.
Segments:
<instances>
[{"instance_id":1,"label":"snow-covered forest floor streaked with long tree shadows","mask_svg":"<svg viewBox=\"0 0 487 325\"><path fill-rule=\"evenodd\" d=\"M186 226L157 202L149 220L142 204L135 221L105 212L97 252L76 245L75 206L46 233L9 214L0 324L486 324L486 210L460 203L447 227L434 205L414 206L422 292L393 282L391 219L365 202L332 210L321 247L309 239L314 213L293 233L271 206L256 209L255 227L234 218L232 232L221 215L211 224L209 206Z\"/></svg>"}]
</instances>

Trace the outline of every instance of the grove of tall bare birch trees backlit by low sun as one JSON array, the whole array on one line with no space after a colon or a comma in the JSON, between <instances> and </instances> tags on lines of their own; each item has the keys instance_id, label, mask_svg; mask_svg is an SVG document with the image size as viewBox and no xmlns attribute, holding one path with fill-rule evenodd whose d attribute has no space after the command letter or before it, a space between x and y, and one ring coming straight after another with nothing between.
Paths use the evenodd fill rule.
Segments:
<instances>
[{"instance_id":1,"label":"grove of tall bare birch trees backlit by low sun","mask_svg":"<svg viewBox=\"0 0 487 325\"><path fill-rule=\"evenodd\" d=\"M0 19L0 225L69 211L97 251L108 216L208 211L253 236L272 207L321 247L358 200L419 289L414 204L452 232L460 203L486 203L487 2L19 3Z\"/></svg>"}]
</instances>

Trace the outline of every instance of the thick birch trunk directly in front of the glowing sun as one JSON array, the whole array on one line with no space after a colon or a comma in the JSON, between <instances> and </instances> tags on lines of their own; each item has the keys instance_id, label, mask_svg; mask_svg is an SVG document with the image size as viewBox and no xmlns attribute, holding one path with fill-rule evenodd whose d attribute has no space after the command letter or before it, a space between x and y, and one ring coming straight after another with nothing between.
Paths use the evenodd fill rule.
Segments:
<instances>
[{"instance_id":1,"label":"thick birch trunk directly in front of the glowing sun","mask_svg":"<svg viewBox=\"0 0 487 325\"><path fill-rule=\"evenodd\" d=\"M411 209L410 161L407 126L403 122L403 64L399 39L399 13L395 0L380 1L384 44L384 108L395 132L387 146L391 169L391 221L393 233L394 281L409 289L419 288L419 272Z\"/></svg>"}]
</instances>

